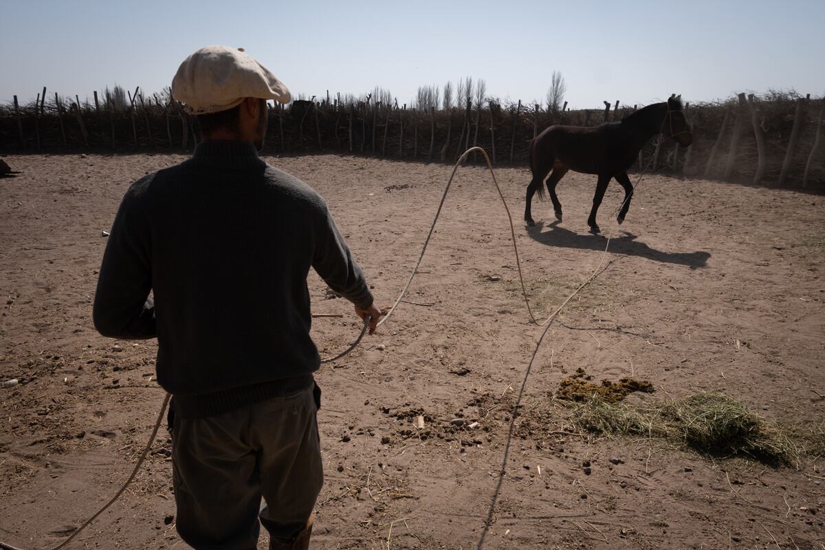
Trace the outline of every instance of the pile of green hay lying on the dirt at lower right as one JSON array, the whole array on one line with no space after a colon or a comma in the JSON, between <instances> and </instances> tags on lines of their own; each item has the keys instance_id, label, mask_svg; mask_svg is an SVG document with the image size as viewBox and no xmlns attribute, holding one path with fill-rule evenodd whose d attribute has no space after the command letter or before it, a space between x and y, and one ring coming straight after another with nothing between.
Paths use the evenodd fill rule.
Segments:
<instances>
[{"instance_id":1,"label":"pile of green hay lying on the dirt at lower right","mask_svg":"<svg viewBox=\"0 0 825 550\"><path fill-rule=\"evenodd\" d=\"M799 449L777 426L721 393L696 393L647 406L598 397L573 411L582 430L685 444L703 454L744 454L768 463L792 463Z\"/></svg>"}]
</instances>

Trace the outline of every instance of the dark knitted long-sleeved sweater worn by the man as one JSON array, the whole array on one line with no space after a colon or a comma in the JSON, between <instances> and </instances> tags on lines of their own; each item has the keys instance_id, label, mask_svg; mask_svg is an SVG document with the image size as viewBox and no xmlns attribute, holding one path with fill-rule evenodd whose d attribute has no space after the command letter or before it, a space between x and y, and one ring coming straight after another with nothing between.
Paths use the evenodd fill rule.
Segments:
<instances>
[{"instance_id":1,"label":"dark knitted long-sleeved sweater worn by the man","mask_svg":"<svg viewBox=\"0 0 825 550\"><path fill-rule=\"evenodd\" d=\"M200 143L135 182L106 243L94 322L158 338L158 382L181 416L211 416L312 383L307 275L359 308L372 295L324 200L250 143ZM152 291L153 299L149 297Z\"/></svg>"}]
</instances>

